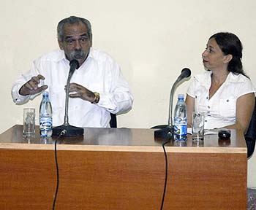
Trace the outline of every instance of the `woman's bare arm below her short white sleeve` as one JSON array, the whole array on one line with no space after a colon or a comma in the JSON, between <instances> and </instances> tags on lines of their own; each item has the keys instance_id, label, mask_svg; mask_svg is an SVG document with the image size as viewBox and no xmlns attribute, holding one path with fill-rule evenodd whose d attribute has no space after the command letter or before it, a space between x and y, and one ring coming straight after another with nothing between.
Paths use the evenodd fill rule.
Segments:
<instances>
[{"instance_id":1,"label":"woman's bare arm below her short white sleeve","mask_svg":"<svg viewBox=\"0 0 256 210\"><path fill-rule=\"evenodd\" d=\"M249 123L252 118L252 112L255 108L255 94L248 93L240 96L236 101L236 123L228 125L225 128L240 129L244 134L249 128Z\"/></svg>"}]
</instances>

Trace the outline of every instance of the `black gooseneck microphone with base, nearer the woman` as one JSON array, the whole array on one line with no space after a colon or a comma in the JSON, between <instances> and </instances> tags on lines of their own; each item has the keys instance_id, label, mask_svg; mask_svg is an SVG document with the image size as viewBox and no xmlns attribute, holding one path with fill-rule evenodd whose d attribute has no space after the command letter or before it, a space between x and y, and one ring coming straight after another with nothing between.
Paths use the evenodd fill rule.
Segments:
<instances>
[{"instance_id":1,"label":"black gooseneck microphone with base, nearer the woman","mask_svg":"<svg viewBox=\"0 0 256 210\"><path fill-rule=\"evenodd\" d=\"M178 76L176 81L173 83L173 87L170 90L170 101L169 101L169 115L168 115L168 125L165 128L154 131L154 137L157 139L167 139L174 140L174 128L173 128L173 95L174 90L178 82L181 82L182 79L190 77L190 69L184 68L181 71L181 74Z\"/></svg>"}]
</instances>

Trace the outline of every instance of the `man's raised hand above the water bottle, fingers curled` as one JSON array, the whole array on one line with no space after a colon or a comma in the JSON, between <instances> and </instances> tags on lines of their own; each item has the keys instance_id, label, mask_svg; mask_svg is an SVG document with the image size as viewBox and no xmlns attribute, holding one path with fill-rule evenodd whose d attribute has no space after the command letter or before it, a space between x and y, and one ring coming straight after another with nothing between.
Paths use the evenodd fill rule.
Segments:
<instances>
[{"instance_id":1,"label":"man's raised hand above the water bottle, fingers curled","mask_svg":"<svg viewBox=\"0 0 256 210\"><path fill-rule=\"evenodd\" d=\"M48 88L48 85L42 85L38 88L38 84L40 83L40 79L45 79L41 74L38 74L37 77L32 77L29 82L26 82L19 90L20 95L28 96L34 95L36 93L41 92Z\"/></svg>"}]
</instances>

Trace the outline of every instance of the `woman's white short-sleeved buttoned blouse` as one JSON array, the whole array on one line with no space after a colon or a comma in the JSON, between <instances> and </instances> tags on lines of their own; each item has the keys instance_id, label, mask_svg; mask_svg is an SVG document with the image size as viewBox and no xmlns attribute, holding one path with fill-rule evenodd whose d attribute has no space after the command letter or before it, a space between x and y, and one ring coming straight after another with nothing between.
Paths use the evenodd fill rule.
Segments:
<instances>
[{"instance_id":1,"label":"woman's white short-sleeved buttoned blouse","mask_svg":"<svg viewBox=\"0 0 256 210\"><path fill-rule=\"evenodd\" d=\"M227 75L227 79L209 99L211 71L195 76L187 94L195 98L195 111L205 112L205 129L222 128L236 123L236 101L247 93L255 93L250 79L242 74Z\"/></svg>"}]
</instances>

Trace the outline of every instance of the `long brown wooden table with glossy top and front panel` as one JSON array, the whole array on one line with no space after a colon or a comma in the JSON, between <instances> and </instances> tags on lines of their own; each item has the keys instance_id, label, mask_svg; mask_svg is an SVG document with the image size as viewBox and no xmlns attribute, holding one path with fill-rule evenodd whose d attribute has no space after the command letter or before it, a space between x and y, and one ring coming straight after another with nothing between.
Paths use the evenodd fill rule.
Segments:
<instances>
[{"instance_id":1,"label":"long brown wooden table with glossy top and front panel","mask_svg":"<svg viewBox=\"0 0 256 210\"><path fill-rule=\"evenodd\" d=\"M56 137L23 138L22 125L0 135L0 209L52 209ZM168 179L163 209L246 209L244 135L230 141L188 136L165 146ZM57 144L56 209L160 209L165 155L154 129L84 128Z\"/></svg>"}]
</instances>

